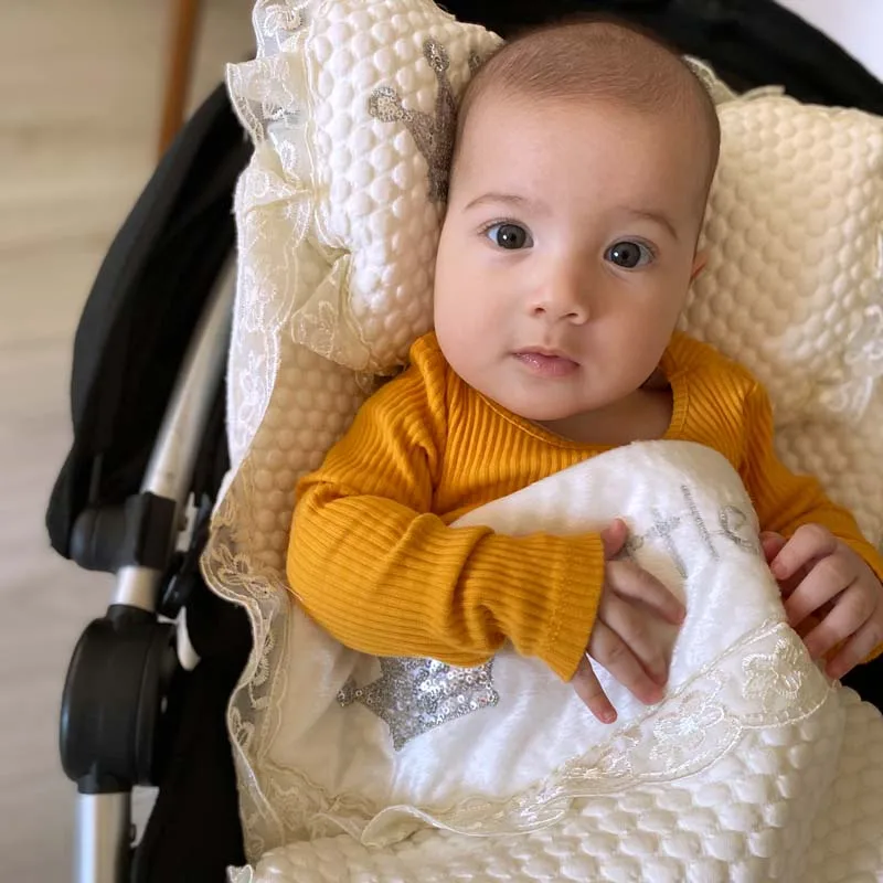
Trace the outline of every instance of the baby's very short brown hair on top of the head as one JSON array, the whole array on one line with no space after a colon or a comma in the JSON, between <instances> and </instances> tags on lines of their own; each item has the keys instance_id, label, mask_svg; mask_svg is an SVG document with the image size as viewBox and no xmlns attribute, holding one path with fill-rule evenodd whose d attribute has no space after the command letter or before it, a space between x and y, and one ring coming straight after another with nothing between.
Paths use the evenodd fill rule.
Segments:
<instances>
[{"instance_id":1,"label":"baby's very short brown hair on top of the head","mask_svg":"<svg viewBox=\"0 0 883 883\"><path fill-rule=\"evenodd\" d=\"M488 94L621 103L679 114L703 131L711 187L721 127L709 91L678 51L656 35L609 17L579 17L517 35L487 58L462 95L454 161L470 110Z\"/></svg>"}]
</instances>

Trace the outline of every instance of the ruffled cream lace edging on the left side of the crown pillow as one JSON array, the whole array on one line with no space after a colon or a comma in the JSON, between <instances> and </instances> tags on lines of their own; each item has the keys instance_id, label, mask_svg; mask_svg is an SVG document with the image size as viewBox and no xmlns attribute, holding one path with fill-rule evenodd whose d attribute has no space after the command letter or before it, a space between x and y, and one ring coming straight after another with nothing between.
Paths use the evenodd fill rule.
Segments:
<instances>
[{"instance_id":1,"label":"ruffled cream lace edging on the left side of the crown pillow","mask_svg":"<svg viewBox=\"0 0 883 883\"><path fill-rule=\"evenodd\" d=\"M259 352L262 343L277 352L278 334L286 331L338 364L383 374L397 362L387 363L365 341L350 305L351 257L343 248L328 246L333 237L313 196L305 50L315 7L316 0L258 0L253 13L257 57L226 70L231 102L255 143L236 190L238 291L246 333L234 340L240 352ZM270 328L277 339L255 339L257 329ZM266 390L272 389L270 365L270 360L255 365L241 381L264 391L264 406ZM235 391L231 404L238 405ZM242 453L242 439L236 443Z\"/></svg>"}]
</instances>

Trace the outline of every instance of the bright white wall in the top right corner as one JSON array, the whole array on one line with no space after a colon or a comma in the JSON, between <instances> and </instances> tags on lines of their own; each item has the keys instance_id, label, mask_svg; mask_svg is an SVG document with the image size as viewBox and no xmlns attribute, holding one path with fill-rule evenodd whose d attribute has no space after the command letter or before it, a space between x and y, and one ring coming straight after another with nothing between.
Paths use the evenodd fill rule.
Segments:
<instances>
[{"instance_id":1,"label":"bright white wall in the top right corner","mask_svg":"<svg viewBox=\"0 0 883 883\"><path fill-rule=\"evenodd\" d=\"M883 81L883 0L778 0Z\"/></svg>"}]
</instances>

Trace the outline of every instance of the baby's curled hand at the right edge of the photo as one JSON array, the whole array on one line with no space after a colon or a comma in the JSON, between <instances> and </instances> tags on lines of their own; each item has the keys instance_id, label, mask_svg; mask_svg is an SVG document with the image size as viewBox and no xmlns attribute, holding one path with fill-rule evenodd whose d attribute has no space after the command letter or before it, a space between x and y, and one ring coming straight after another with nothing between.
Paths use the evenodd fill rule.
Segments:
<instances>
[{"instance_id":1,"label":"baby's curled hand at the right edge of the photo","mask_svg":"<svg viewBox=\"0 0 883 883\"><path fill-rule=\"evenodd\" d=\"M830 678L842 678L883 642L880 579L819 524L798 528L787 542L777 533L765 533L760 540L781 588L788 623L813 659L837 648L826 671Z\"/></svg>"}]
</instances>

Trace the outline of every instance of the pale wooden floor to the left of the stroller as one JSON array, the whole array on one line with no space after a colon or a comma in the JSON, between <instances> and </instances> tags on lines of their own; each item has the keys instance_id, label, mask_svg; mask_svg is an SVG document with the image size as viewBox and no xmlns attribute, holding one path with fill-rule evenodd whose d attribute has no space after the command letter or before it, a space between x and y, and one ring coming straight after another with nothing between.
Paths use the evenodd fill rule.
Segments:
<instances>
[{"instance_id":1,"label":"pale wooden floor to the left of the stroller","mask_svg":"<svg viewBox=\"0 0 883 883\"><path fill-rule=\"evenodd\" d=\"M208 0L198 83L252 45L251 3ZM70 880L57 703L107 577L49 551L68 440L71 340L155 161L166 0L0 2L0 879Z\"/></svg>"}]
</instances>

